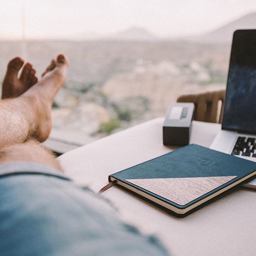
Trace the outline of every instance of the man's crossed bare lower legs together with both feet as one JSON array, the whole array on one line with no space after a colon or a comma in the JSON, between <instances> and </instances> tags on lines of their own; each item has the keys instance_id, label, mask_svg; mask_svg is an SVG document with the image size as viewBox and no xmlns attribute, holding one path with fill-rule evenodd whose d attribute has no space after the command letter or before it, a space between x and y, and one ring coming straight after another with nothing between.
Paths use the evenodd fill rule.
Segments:
<instances>
[{"instance_id":1,"label":"man's crossed bare lower legs together with both feet","mask_svg":"<svg viewBox=\"0 0 256 256\"><path fill-rule=\"evenodd\" d=\"M3 80L2 99L6 100L0 102L0 115L3 114L0 164L35 162L61 170L52 152L30 137L44 141L49 135L52 99L64 84L67 60L63 55L52 60L39 82L29 63L24 65L18 77L23 64L19 57L12 59ZM35 88L29 90L33 85Z\"/></svg>"}]
</instances>

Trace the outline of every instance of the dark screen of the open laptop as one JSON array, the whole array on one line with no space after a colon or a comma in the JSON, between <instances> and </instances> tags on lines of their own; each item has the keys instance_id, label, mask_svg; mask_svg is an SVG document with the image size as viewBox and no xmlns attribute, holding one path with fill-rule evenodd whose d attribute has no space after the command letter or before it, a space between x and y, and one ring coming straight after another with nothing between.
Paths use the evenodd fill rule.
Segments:
<instances>
[{"instance_id":1,"label":"dark screen of the open laptop","mask_svg":"<svg viewBox=\"0 0 256 256\"><path fill-rule=\"evenodd\" d=\"M256 29L233 35L222 129L256 133Z\"/></svg>"}]
</instances>

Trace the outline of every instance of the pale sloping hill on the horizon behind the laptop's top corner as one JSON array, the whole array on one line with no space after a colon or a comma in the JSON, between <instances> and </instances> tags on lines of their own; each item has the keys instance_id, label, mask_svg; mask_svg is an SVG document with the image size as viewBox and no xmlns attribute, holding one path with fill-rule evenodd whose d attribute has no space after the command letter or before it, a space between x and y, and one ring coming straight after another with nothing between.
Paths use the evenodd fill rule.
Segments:
<instances>
[{"instance_id":1,"label":"pale sloping hill on the horizon behind the laptop's top corner","mask_svg":"<svg viewBox=\"0 0 256 256\"><path fill-rule=\"evenodd\" d=\"M192 41L231 43L233 32L237 29L256 29L256 13L250 13L212 32L189 38Z\"/></svg>"}]
</instances>

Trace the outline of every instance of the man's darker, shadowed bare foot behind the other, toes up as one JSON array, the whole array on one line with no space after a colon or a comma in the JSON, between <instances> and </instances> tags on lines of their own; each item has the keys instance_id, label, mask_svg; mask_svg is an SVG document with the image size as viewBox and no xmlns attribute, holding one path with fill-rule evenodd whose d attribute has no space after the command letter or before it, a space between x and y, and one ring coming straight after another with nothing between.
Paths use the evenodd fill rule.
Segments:
<instances>
[{"instance_id":1,"label":"man's darker, shadowed bare foot behind the other, toes up","mask_svg":"<svg viewBox=\"0 0 256 256\"><path fill-rule=\"evenodd\" d=\"M37 83L35 69L30 63L24 65L20 77L18 77L18 72L23 64L24 61L20 57L9 62L2 84L2 99L16 98Z\"/></svg>"}]
</instances>

